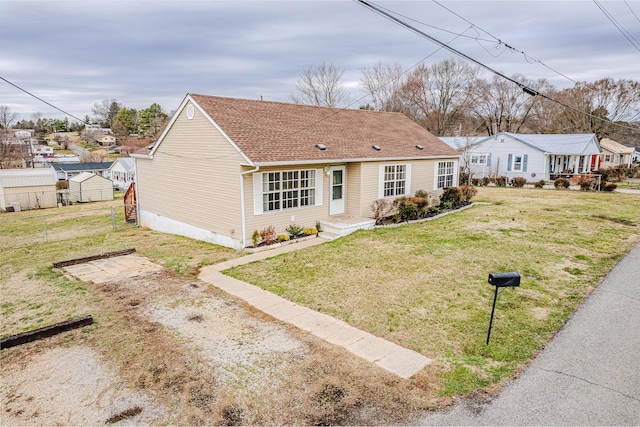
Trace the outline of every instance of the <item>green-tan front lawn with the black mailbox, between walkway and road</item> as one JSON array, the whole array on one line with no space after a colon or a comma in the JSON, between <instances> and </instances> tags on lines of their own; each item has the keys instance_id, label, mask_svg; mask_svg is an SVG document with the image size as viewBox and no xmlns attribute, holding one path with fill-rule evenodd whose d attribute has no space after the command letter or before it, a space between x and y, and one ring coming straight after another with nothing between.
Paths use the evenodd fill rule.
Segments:
<instances>
[{"instance_id":1,"label":"green-tan front lawn with the black mailbox, between walkway and road","mask_svg":"<svg viewBox=\"0 0 640 427\"><path fill-rule=\"evenodd\" d=\"M483 187L471 209L350 236L227 270L291 301L416 350L443 395L510 378L640 241L640 197ZM492 272L500 291L485 345ZM425 375L433 378L434 375Z\"/></svg>"}]
</instances>

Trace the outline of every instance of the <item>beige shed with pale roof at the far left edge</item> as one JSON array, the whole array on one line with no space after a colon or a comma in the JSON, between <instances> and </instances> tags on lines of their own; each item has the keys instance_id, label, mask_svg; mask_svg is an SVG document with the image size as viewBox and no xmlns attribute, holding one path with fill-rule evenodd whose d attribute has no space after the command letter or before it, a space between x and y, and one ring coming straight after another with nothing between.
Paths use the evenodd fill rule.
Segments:
<instances>
[{"instance_id":1,"label":"beige shed with pale roof at the far left edge","mask_svg":"<svg viewBox=\"0 0 640 427\"><path fill-rule=\"evenodd\" d=\"M56 173L48 168L0 169L0 209L27 210L53 208Z\"/></svg>"}]
</instances>

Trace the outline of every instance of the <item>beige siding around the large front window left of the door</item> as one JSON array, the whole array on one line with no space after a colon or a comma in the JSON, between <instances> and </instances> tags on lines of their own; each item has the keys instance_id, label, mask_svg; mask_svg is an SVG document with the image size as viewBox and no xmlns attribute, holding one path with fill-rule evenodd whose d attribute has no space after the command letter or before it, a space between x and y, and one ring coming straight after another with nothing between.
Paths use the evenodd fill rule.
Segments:
<instances>
[{"instance_id":1,"label":"beige siding around the large front window left of the door","mask_svg":"<svg viewBox=\"0 0 640 427\"><path fill-rule=\"evenodd\" d=\"M276 233L283 233L292 223L300 227L315 227L316 221L327 219L329 217L329 178L324 171L325 167L328 166L329 165L299 165L261 168L257 173L316 170L316 180L322 180L322 204L320 206L301 206L259 214L256 214L254 209L255 192L253 174L245 175L245 212L247 218L245 237L247 244L251 245L251 236L255 230L260 231L270 225L273 225ZM347 179L349 178L347 177ZM316 197L318 197L318 194L316 194Z\"/></svg>"}]
</instances>

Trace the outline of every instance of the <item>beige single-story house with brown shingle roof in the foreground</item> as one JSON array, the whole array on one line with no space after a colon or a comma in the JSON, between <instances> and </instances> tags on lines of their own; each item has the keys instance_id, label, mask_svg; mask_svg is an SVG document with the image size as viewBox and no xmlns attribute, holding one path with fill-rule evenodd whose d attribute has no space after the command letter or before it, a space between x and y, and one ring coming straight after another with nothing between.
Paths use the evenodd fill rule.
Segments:
<instances>
[{"instance_id":1,"label":"beige single-story house with brown shingle roof in the foreground","mask_svg":"<svg viewBox=\"0 0 640 427\"><path fill-rule=\"evenodd\" d=\"M196 94L132 157L141 226L232 248L269 226L368 228L376 199L458 184L459 154L400 113Z\"/></svg>"}]
</instances>

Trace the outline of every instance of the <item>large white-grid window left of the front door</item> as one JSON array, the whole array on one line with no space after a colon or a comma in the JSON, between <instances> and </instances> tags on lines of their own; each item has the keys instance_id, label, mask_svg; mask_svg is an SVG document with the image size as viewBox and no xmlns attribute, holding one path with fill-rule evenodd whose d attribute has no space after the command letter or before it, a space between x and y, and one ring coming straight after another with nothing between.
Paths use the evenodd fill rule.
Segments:
<instances>
[{"instance_id":1,"label":"large white-grid window left of the front door","mask_svg":"<svg viewBox=\"0 0 640 427\"><path fill-rule=\"evenodd\" d=\"M265 172L262 174L263 210L270 212L313 206L315 186L315 170Z\"/></svg>"}]
</instances>

